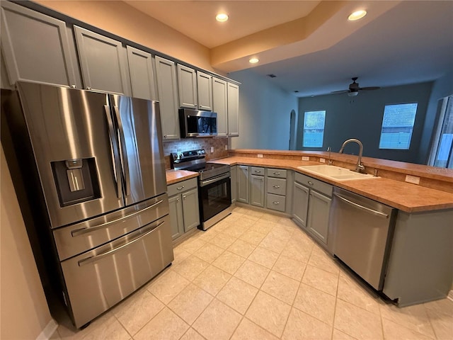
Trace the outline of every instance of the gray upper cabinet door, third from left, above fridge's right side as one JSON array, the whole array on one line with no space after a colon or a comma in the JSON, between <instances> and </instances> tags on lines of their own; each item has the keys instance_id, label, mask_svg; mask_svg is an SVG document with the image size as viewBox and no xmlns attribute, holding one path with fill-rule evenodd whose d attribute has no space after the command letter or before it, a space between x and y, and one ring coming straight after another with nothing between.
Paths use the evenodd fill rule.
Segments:
<instances>
[{"instance_id":1,"label":"gray upper cabinet door, third from left, above fridge's right side","mask_svg":"<svg viewBox=\"0 0 453 340\"><path fill-rule=\"evenodd\" d=\"M151 53L126 46L132 97L156 101Z\"/></svg>"}]
</instances>

